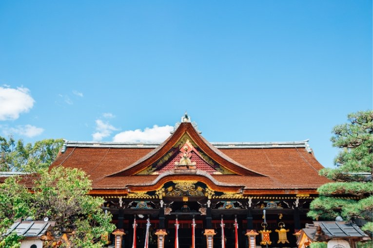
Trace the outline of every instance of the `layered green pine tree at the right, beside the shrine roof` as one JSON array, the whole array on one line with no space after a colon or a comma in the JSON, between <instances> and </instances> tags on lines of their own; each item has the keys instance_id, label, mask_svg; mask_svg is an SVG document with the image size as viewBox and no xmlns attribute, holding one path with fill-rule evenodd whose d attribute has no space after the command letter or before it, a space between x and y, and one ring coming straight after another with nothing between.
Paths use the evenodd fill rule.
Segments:
<instances>
[{"instance_id":1,"label":"layered green pine tree at the right, beside the shrine roof","mask_svg":"<svg viewBox=\"0 0 373 248\"><path fill-rule=\"evenodd\" d=\"M331 141L342 150L334 159L336 168L325 168L319 173L334 182L317 189L319 197L311 203L308 216L320 220L334 220L338 215L345 220L363 219L366 224L362 230L372 235L372 120L372 110L360 111L349 114L348 123L334 127Z\"/></svg>"}]
</instances>

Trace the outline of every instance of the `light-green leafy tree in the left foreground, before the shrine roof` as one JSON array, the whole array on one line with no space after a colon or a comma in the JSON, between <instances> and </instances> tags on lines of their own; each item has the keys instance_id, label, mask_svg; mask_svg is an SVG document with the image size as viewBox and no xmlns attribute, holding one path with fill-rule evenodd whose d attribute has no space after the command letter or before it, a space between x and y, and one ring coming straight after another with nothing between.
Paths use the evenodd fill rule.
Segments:
<instances>
[{"instance_id":1,"label":"light-green leafy tree in the left foreground, before the shrine roof","mask_svg":"<svg viewBox=\"0 0 373 248\"><path fill-rule=\"evenodd\" d=\"M105 243L101 235L114 230L111 214L102 211L103 199L87 195L91 180L83 171L62 166L42 169L34 180L33 193L21 184L23 181L27 181L25 177L11 177L0 185L0 219L6 219L2 233L20 217L32 216L35 220L48 217L57 222L56 235L70 233L71 247L98 248ZM1 238L0 235L0 244ZM16 245L17 240L13 243Z\"/></svg>"}]
</instances>

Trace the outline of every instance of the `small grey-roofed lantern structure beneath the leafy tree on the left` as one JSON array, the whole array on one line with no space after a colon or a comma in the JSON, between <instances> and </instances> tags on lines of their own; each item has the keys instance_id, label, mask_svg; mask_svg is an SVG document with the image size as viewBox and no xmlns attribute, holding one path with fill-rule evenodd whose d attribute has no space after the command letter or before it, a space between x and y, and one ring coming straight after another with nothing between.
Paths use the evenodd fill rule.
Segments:
<instances>
[{"instance_id":1,"label":"small grey-roofed lantern structure beneath the leafy tree on the left","mask_svg":"<svg viewBox=\"0 0 373 248\"><path fill-rule=\"evenodd\" d=\"M17 220L4 235L16 232L22 236L21 248L42 248L42 241L50 241L50 230L56 225L54 221Z\"/></svg>"}]
</instances>

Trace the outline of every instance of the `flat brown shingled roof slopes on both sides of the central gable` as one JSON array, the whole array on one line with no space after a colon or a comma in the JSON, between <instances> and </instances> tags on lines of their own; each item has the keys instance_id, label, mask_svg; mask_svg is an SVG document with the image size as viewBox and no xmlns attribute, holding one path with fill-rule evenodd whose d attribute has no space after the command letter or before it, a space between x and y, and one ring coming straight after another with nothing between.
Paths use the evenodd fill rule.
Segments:
<instances>
[{"instance_id":1,"label":"flat brown shingled roof slopes on both sides of the central gable","mask_svg":"<svg viewBox=\"0 0 373 248\"><path fill-rule=\"evenodd\" d=\"M152 148L72 147L60 154L54 166L62 164L84 170L93 188L126 188L151 182L157 175L106 177L146 156ZM323 166L305 148L223 148L219 149L241 165L268 177L212 175L221 183L235 182L247 189L316 189L329 182L318 176Z\"/></svg>"}]
</instances>

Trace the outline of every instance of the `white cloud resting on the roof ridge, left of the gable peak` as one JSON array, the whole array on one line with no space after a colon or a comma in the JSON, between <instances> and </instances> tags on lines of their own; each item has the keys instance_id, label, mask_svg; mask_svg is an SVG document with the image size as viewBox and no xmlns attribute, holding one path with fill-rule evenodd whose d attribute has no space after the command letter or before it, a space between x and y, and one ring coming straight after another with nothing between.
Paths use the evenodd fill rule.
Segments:
<instances>
[{"instance_id":1,"label":"white cloud resting on the roof ridge, left of the gable peak","mask_svg":"<svg viewBox=\"0 0 373 248\"><path fill-rule=\"evenodd\" d=\"M169 136L174 127L170 125L157 126L152 128L127 130L116 134L113 138L114 142L163 142Z\"/></svg>"}]
</instances>

